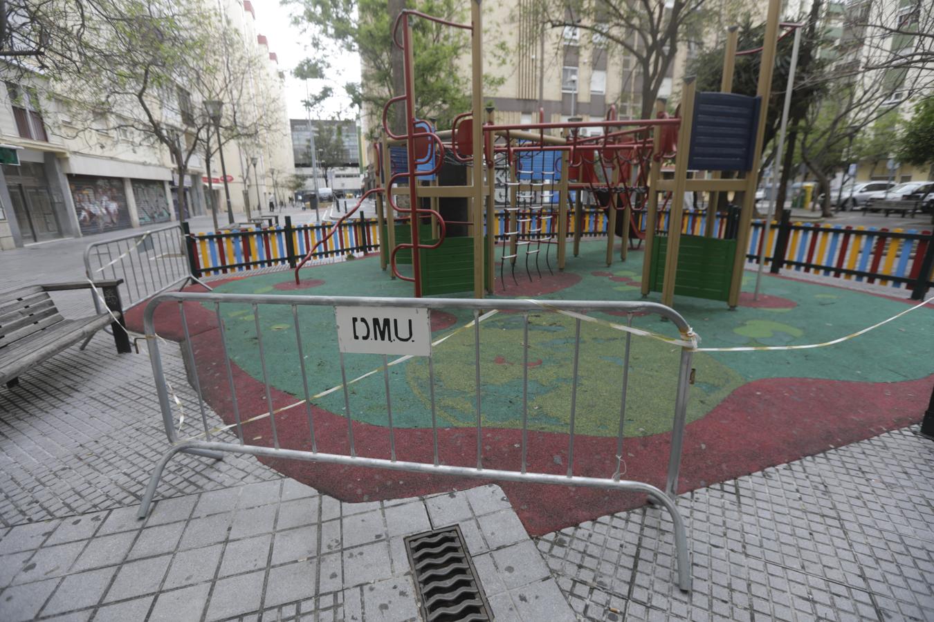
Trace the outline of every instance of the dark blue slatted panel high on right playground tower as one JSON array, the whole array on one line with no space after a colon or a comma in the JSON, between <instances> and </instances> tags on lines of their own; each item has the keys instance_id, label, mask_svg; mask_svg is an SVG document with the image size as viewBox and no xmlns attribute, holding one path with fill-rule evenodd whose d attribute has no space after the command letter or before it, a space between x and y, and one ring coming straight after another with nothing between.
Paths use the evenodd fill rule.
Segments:
<instances>
[{"instance_id":1,"label":"dark blue slatted panel high on right playground tower","mask_svg":"<svg viewBox=\"0 0 934 622\"><path fill-rule=\"evenodd\" d=\"M687 168L752 170L761 99L735 93L697 93Z\"/></svg>"}]
</instances>

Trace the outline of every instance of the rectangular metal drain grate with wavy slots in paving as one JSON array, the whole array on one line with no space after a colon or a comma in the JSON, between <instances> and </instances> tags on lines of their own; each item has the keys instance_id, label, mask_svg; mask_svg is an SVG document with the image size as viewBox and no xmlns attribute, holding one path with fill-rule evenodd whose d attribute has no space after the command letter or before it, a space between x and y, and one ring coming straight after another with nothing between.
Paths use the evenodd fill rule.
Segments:
<instances>
[{"instance_id":1,"label":"rectangular metal drain grate with wavy slots in paving","mask_svg":"<svg viewBox=\"0 0 934 622\"><path fill-rule=\"evenodd\" d=\"M410 535L405 538L405 551L426 622L493 619L460 527Z\"/></svg>"}]
</instances>

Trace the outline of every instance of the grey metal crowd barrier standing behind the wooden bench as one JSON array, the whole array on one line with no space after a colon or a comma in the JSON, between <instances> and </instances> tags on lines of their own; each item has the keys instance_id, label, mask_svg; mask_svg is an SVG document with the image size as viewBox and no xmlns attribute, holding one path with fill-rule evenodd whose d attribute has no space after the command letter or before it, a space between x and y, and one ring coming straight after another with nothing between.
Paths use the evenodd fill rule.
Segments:
<instances>
[{"instance_id":1,"label":"grey metal crowd barrier standing behind the wooden bench","mask_svg":"<svg viewBox=\"0 0 934 622\"><path fill-rule=\"evenodd\" d=\"M120 299L126 301L124 310L188 281L205 285L191 271L181 225L92 242L84 249L84 275L92 281L122 279ZM210 289L207 285L205 287ZM93 292L92 300L94 308L102 312Z\"/></svg>"}]
</instances>

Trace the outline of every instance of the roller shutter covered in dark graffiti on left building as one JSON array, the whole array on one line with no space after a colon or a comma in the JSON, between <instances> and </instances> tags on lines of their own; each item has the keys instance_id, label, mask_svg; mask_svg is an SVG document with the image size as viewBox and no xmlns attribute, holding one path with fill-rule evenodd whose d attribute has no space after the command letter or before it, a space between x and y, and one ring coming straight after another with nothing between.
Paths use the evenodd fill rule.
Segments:
<instances>
[{"instance_id":1,"label":"roller shutter covered in dark graffiti on left building","mask_svg":"<svg viewBox=\"0 0 934 622\"><path fill-rule=\"evenodd\" d=\"M133 226L120 177L68 175L68 184L82 235Z\"/></svg>"}]
</instances>

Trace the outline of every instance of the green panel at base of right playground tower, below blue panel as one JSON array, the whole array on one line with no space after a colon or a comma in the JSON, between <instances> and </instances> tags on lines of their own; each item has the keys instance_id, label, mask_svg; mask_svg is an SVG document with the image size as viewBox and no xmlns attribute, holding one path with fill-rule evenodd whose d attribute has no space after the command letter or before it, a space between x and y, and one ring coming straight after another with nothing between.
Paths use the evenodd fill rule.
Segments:
<instances>
[{"instance_id":1,"label":"green panel at base of right playground tower, below blue panel","mask_svg":"<svg viewBox=\"0 0 934 622\"><path fill-rule=\"evenodd\" d=\"M674 294L710 300L727 300L736 255L735 240L682 235ZM649 286L660 292L664 282L668 236L656 236L649 265Z\"/></svg>"}]
</instances>

